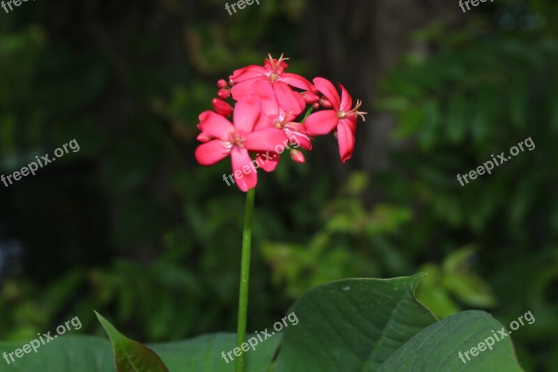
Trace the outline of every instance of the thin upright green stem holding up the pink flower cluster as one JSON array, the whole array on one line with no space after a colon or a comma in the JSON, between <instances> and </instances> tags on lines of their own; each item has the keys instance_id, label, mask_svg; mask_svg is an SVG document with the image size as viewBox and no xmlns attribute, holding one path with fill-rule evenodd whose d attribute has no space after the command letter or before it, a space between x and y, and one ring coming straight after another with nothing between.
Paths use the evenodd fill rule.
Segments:
<instances>
[{"instance_id":1,"label":"thin upright green stem holding up the pink flower cluster","mask_svg":"<svg viewBox=\"0 0 558 372\"><path fill-rule=\"evenodd\" d=\"M246 193L244 207L244 228L242 230L242 259L240 264L239 321L236 332L236 346L239 348L246 341L246 318L248 315L248 282L250 279L250 248L252 246L252 217L254 216L254 198L256 189L250 188ZM236 359L236 372L244 372L244 352Z\"/></svg>"}]
</instances>

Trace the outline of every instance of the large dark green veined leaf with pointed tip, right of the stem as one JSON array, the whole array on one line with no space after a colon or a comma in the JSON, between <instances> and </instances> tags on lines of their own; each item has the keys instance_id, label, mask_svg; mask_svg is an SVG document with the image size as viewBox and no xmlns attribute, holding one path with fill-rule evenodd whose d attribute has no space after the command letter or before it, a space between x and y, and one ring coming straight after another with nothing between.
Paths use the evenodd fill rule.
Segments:
<instances>
[{"instance_id":1,"label":"large dark green veined leaf with pointed tip, right of the stem","mask_svg":"<svg viewBox=\"0 0 558 372\"><path fill-rule=\"evenodd\" d=\"M284 331L277 371L378 369L436 322L414 298L422 276L347 279L309 290L291 309L299 324Z\"/></svg>"}]
</instances>

